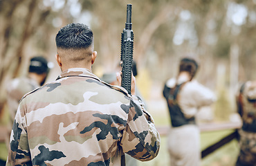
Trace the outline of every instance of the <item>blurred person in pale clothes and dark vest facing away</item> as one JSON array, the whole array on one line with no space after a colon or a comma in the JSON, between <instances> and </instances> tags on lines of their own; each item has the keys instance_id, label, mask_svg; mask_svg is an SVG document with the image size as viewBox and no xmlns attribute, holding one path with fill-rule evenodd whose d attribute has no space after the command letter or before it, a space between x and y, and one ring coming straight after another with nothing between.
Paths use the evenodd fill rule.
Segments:
<instances>
[{"instance_id":1,"label":"blurred person in pale clothes and dark vest facing away","mask_svg":"<svg viewBox=\"0 0 256 166\"><path fill-rule=\"evenodd\" d=\"M209 106L216 98L210 89L193 80L198 68L194 59L184 57L177 77L167 80L163 89L171 119L167 149L172 166L200 165L200 130L195 116L201 107Z\"/></svg>"}]
</instances>

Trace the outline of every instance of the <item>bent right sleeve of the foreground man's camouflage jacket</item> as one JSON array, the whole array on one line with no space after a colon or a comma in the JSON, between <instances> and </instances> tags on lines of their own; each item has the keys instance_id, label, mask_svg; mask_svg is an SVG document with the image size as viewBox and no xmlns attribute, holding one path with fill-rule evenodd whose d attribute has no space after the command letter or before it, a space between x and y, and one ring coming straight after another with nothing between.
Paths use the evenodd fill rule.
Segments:
<instances>
[{"instance_id":1,"label":"bent right sleeve of the foreground man's camouflage jacket","mask_svg":"<svg viewBox=\"0 0 256 166\"><path fill-rule=\"evenodd\" d=\"M125 153L142 161L152 160L159 151L160 135L156 131L154 120L144 109L140 98L134 95L120 145Z\"/></svg>"}]
</instances>

